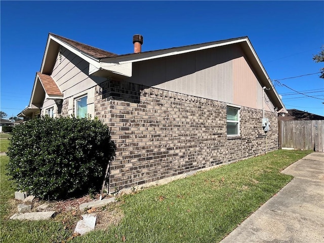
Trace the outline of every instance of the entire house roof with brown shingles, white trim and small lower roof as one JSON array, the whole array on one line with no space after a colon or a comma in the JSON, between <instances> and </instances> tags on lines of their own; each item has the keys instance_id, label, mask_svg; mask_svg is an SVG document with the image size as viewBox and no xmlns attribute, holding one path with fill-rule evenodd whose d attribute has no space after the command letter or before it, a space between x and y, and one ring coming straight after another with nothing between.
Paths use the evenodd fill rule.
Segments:
<instances>
[{"instance_id":1,"label":"entire house roof with brown shingles, white trim and small lower roof","mask_svg":"<svg viewBox=\"0 0 324 243\"><path fill-rule=\"evenodd\" d=\"M208 50L211 48L218 48L224 46L239 45L244 51L245 55L249 59L249 63L253 66L253 69L258 76L260 84L265 87L270 88L267 92L268 97L271 99L275 107L277 107L278 113L286 113L286 107L279 98L278 93L271 83L265 68L263 67L257 53L255 52L250 39L248 36L242 36L237 38L224 39L221 41L194 44L189 46L174 47L168 49L160 49L155 51L147 51L141 53L131 53L124 55L117 55L111 52L104 51L83 43L73 41L72 39L49 33L47 45L42 61L42 66L40 70L41 76L39 77L39 82L37 78L35 80L33 94L35 89L39 89L39 84L42 83L44 91L46 93L46 98L51 99L61 99L62 93L57 87L54 87L50 75L52 74L53 67L61 47L67 48L69 51L84 59L89 63L89 75L94 76L117 76L117 77L131 77L134 62L141 62L144 60L151 60L157 58L163 58L168 56L181 55L184 53L191 53L201 50ZM42 76L45 75L45 76ZM52 83L52 84L51 84ZM45 84L45 85L44 85ZM37 91L38 92L38 91ZM37 93L36 92L36 93ZM54 92L55 95L51 95L50 92ZM60 94L59 94L60 92ZM40 103L42 97L31 97L29 107L32 104ZM36 105L37 106L37 105Z\"/></svg>"}]
</instances>

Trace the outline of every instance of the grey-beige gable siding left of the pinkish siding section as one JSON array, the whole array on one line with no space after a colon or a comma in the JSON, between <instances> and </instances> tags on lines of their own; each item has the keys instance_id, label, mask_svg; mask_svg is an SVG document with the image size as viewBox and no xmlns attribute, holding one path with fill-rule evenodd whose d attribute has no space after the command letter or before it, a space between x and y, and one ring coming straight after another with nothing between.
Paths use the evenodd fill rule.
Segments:
<instances>
[{"instance_id":1,"label":"grey-beige gable siding left of the pinkish siding section","mask_svg":"<svg viewBox=\"0 0 324 243\"><path fill-rule=\"evenodd\" d=\"M239 55L233 46L138 62L130 82L232 103L231 59Z\"/></svg>"}]
</instances>

